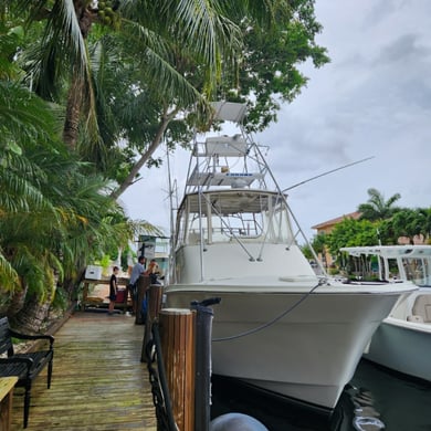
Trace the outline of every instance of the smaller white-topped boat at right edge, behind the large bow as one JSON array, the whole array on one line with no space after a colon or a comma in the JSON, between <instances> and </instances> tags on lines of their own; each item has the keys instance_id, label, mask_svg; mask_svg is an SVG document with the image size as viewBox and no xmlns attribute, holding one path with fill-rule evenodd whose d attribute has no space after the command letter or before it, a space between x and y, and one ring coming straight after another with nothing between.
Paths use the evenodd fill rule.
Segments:
<instances>
[{"instance_id":1,"label":"smaller white-topped boat at right edge, behind the large bow","mask_svg":"<svg viewBox=\"0 0 431 431\"><path fill-rule=\"evenodd\" d=\"M362 262L372 256L380 280L410 280L419 286L400 297L372 336L364 357L431 381L431 245L358 246L341 251Z\"/></svg>"}]
</instances>

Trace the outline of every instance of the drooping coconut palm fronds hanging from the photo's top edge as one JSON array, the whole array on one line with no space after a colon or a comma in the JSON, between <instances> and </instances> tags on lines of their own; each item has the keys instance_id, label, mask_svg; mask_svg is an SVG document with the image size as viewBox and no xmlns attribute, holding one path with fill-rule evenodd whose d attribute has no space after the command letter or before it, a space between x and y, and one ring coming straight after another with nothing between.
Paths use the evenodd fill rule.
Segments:
<instances>
[{"instance_id":1,"label":"drooping coconut palm fronds hanging from the photo's top edge","mask_svg":"<svg viewBox=\"0 0 431 431\"><path fill-rule=\"evenodd\" d=\"M88 55L88 40L97 40L102 32L92 31L95 24L106 29L108 22L118 35L127 33L128 41L133 40L132 46L139 48L147 78L150 77L160 92L169 93L176 103L183 97L189 103L196 102L199 94L169 64L167 41L170 38L175 36L177 43L182 41L201 59L208 71L209 86L214 86L223 51L239 45L238 29L221 14L218 1L116 2L119 8L109 8L114 13L109 21L106 21L106 12L102 14L106 9L92 1L15 0L10 3L18 6L21 13L27 12L31 22L39 22L41 17L45 19L29 73L34 88L45 98L57 99L64 83L69 83L63 139L72 150L76 148L80 127L84 127L94 140L99 140ZM122 17L122 29L118 30ZM127 52L123 55L127 59Z\"/></svg>"}]
</instances>

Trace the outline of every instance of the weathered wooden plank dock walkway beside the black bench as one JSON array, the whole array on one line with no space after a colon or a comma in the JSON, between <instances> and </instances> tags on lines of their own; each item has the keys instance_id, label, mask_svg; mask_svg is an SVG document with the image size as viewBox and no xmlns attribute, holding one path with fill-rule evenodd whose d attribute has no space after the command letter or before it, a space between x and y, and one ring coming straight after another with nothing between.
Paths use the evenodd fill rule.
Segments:
<instances>
[{"instance_id":1,"label":"weathered wooden plank dock walkway beside the black bench","mask_svg":"<svg viewBox=\"0 0 431 431\"><path fill-rule=\"evenodd\" d=\"M156 431L144 326L128 315L75 313L59 329L51 389L34 381L27 430ZM13 395L11 431L23 429L23 390Z\"/></svg>"}]
</instances>

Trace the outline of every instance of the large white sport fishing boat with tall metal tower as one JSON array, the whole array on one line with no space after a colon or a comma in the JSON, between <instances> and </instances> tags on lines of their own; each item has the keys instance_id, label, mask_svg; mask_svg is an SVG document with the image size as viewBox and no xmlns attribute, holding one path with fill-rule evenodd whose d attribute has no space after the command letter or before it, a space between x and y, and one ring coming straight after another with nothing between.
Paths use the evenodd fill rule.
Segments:
<instances>
[{"instance_id":1,"label":"large white sport fishing boat with tall metal tower","mask_svg":"<svg viewBox=\"0 0 431 431\"><path fill-rule=\"evenodd\" d=\"M296 242L302 231L285 193L240 126L244 106L214 108L241 134L195 145L165 306L220 297L213 374L330 410L376 328L414 287L317 276Z\"/></svg>"}]
</instances>

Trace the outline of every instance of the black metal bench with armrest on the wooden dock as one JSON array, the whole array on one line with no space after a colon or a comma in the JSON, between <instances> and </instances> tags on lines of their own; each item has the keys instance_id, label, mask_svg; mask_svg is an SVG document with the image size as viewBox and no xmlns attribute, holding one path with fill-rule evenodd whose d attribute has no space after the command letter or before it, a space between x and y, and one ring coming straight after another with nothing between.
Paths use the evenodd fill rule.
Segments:
<instances>
[{"instance_id":1,"label":"black metal bench with armrest on the wooden dock","mask_svg":"<svg viewBox=\"0 0 431 431\"><path fill-rule=\"evenodd\" d=\"M46 350L15 354L12 337L28 340L45 339L49 341ZM0 318L0 377L17 376L17 387L25 388L24 395L24 428L29 422L31 386L33 379L48 365L48 388L51 387L52 359L54 356L54 337L52 335L25 335L10 328L8 317ZM6 355L3 355L6 356Z\"/></svg>"}]
</instances>

